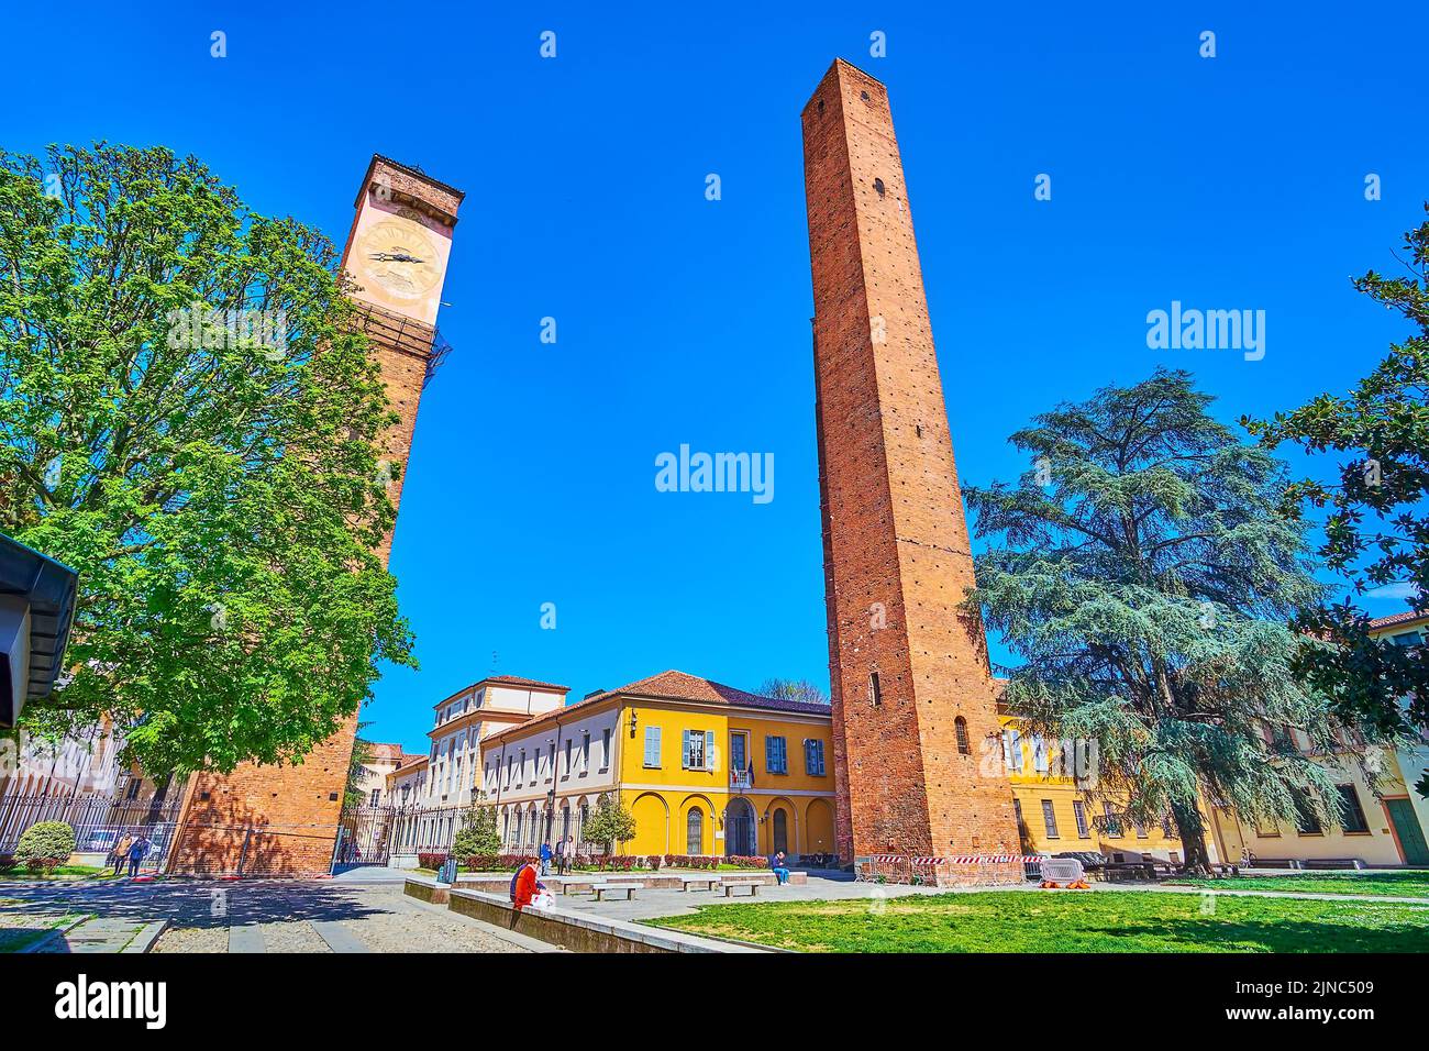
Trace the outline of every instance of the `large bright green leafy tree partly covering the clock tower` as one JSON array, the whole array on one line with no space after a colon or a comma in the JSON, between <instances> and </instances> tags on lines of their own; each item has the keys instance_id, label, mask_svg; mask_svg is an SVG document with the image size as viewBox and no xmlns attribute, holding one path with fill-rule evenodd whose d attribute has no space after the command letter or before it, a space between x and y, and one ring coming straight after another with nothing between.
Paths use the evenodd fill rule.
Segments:
<instances>
[{"instance_id":1,"label":"large bright green leafy tree partly covering the clock tower","mask_svg":"<svg viewBox=\"0 0 1429 1051\"><path fill-rule=\"evenodd\" d=\"M299 761L412 663L337 269L193 157L0 153L0 531L81 588L29 729L109 712L151 774Z\"/></svg>"}]
</instances>

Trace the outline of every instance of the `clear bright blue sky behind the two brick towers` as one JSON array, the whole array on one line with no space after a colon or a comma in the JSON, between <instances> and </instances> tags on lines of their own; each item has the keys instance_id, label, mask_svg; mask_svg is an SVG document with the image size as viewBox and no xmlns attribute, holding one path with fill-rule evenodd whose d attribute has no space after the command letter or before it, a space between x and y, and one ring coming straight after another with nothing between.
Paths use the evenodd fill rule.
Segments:
<instances>
[{"instance_id":1,"label":"clear bright blue sky behind the two brick towers","mask_svg":"<svg viewBox=\"0 0 1429 1051\"><path fill-rule=\"evenodd\" d=\"M1159 363L1232 422L1403 335L1348 279L1393 267L1429 197L1423 7L310 7L14 6L0 144L167 144L339 243L373 152L467 192L392 561L422 671L377 685L376 739L422 748L493 666L573 699L666 668L827 684L799 112L835 56L889 86L969 482L1025 469L1033 413ZM1266 310L1265 359L1149 350L1173 299ZM773 502L657 493L680 443L773 452Z\"/></svg>"}]
</instances>

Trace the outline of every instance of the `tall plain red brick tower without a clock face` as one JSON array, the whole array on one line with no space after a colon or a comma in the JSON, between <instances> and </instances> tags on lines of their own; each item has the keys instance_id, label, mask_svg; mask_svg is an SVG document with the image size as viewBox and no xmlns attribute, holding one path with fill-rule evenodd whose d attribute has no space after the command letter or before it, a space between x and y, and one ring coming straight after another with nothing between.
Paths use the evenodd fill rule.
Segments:
<instances>
[{"instance_id":1,"label":"tall plain red brick tower without a clock face","mask_svg":"<svg viewBox=\"0 0 1429 1051\"><path fill-rule=\"evenodd\" d=\"M1020 852L887 90L837 60L803 112L839 854ZM1009 861L939 882L1020 882Z\"/></svg>"}]
</instances>

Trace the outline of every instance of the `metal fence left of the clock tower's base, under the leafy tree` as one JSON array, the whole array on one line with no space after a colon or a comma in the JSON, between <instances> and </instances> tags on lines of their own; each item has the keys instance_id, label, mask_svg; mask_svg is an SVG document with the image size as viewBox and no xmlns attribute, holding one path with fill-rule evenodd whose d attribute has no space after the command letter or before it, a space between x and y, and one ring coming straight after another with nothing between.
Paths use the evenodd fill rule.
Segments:
<instances>
[{"instance_id":1,"label":"metal fence left of the clock tower's base, under the leafy tree","mask_svg":"<svg viewBox=\"0 0 1429 1051\"><path fill-rule=\"evenodd\" d=\"M74 849L109 854L121 839L143 834L150 848L144 868L169 854L181 798L130 801L111 795L6 795L0 796L0 855L14 854L20 837L41 821L63 821L74 829Z\"/></svg>"}]
</instances>

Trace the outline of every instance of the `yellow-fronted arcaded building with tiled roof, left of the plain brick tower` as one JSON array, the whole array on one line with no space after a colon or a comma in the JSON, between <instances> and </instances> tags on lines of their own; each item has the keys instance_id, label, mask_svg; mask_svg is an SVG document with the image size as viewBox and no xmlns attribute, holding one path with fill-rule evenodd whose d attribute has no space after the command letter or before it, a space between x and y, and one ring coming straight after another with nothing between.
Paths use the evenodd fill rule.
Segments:
<instances>
[{"instance_id":1,"label":"yellow-fronted arcaded building with tiled roof, left of the plain brick tower","mask_svg":"<svg viewBox=\"0 0 1429 1051\"><path fill-rule=\"evenodd\" d=\"M580 842L604 792L636 821L623 854L836 849L827 705L669 671L493 734L483 756L512 851Z\"/></svg>"}]
</instances>

